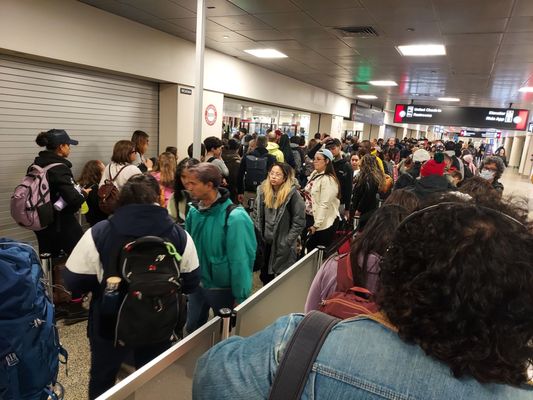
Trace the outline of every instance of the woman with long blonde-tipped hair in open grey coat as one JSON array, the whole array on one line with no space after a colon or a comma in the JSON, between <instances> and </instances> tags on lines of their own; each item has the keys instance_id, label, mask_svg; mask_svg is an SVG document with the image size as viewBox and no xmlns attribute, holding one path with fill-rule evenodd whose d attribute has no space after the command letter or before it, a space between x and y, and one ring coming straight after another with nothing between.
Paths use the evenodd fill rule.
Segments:
<instances>
[{"instance_id":1,"label":"woman with long blonde-tipped hair in open grey coat","mask_svg":"<svg viewBox=\"0 0 533 400\"><path fill-rule=\"evenodd\" d=\"M253 220L265 240L261 282L266 285L296 261L296 244L305 227L305 204L293 169L276 162L257 188Z\"/></svg>"}]
</instances>

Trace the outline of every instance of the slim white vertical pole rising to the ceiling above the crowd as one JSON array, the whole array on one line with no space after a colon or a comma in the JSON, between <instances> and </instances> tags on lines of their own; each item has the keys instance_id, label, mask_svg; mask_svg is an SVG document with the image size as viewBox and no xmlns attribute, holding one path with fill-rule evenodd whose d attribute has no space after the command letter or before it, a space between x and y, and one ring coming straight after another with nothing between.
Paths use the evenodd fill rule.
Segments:
<instances>
[{"instance_id":1,"label":"slim white vertical pole rising to the ceiling above the crowd","mask_svg":"<svg viewBox=\"0 0 533 400\"><path fill-rule=\"evenodd\" d=\"M202 143L202 105L204 94L204 50L205 50L205 0L197 0L196 13L196 71L194 75L194 127L193 157L200 159Z\"/></svg>"}]
</instances>

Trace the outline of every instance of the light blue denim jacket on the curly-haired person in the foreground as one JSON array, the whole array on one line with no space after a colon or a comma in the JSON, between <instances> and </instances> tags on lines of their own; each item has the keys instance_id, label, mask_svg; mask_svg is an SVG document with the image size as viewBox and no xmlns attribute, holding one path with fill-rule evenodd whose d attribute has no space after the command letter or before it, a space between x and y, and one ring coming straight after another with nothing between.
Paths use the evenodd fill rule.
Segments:
<instances>
[{"instance_id":1,"label":"light blue denim jacket on the curly-haired person in the foreground","mask_svg":"<svg viewBox=\"0 0 533 400\"><path fill-rule=\"evenodd\" d=\"M281 317L257 334L231 337L198 361L193 399L267 399L280 359L302 319ZM481 384L454 378L442 362L370 319L340 322L328 335L302 399L498 399L533 398L533 387Z\"/></svg>"}]
</instances>

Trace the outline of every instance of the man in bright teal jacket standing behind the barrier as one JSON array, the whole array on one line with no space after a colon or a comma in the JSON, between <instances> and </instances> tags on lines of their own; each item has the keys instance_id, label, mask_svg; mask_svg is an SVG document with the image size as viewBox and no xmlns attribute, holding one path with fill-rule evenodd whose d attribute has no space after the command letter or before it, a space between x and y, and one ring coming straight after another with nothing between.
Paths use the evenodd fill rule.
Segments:
<instances>
[{"instance_id":1,"label":"man in bright teal jacket standing behind the barrier","mask_svg":"<svg viewBox=\"0 0 533 400\"><path fill-rule=\"evenodd\" d=\"M201 163L188 170L186 187L197 201L190 208L185 229L190 233L200 260L201 283L189 295L187 331L193 332L208 318L244 301L252 290L256 240L252 220L242 207L229 214L229 192L220 188L220 170Z\"/></svg>"}]
</instances>

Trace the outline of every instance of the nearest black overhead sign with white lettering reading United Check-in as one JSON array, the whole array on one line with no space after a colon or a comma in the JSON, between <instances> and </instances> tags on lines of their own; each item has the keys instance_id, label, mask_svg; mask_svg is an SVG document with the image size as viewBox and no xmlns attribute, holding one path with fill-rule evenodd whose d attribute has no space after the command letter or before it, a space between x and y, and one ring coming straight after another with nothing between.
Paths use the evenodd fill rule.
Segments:
<instances>
[{"instance_id":1,"label":"nearest black overhead sign with white lettering reading United Check-in","mask_svg":"<svg viewBox=\"0 0 533 400\"><path fill-rule=\"evenodd\" d=\"M524 131L529 110L396 104L394 122L400 124L470 126Z\"/></svg>"}]
</instances>

